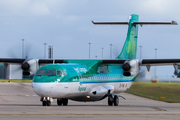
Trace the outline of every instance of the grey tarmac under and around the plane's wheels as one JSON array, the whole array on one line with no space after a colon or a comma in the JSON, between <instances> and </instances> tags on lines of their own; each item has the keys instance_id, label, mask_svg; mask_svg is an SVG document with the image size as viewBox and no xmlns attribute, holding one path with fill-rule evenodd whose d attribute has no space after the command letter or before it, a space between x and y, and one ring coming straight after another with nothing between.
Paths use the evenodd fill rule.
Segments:
<instances>
[{"instance_id":1,"label":"grey tarmac under and around the plane's wheels","mask_svg":"<svg viewBox=\"0 0 180 120\"><path fill-rule=\"evenodd\" d=\"M119 106L70 101L68 106L42 106L31 83L0 83L0 120L179 120L180 103L166 103L122 93Z\"/></svg>"}]
</instances>

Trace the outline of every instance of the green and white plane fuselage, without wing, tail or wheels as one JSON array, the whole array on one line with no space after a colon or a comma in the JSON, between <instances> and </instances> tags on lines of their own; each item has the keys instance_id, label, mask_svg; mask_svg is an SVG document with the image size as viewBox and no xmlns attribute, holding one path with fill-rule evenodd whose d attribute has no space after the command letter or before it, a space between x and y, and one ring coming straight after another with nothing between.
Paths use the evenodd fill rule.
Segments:
<instances>
[{"instance_id":1,"label":"green and white plane fuselage, without wing, tail or wheels","mask_svg":"<svg viewBox=\"0 0 180 120\"><path fill-rule=\"evenodd\" d=\"M40 97L98 101L107 97L109 89L119 94L130 88L136 76L125 77L122 72L120 65L100 65L92 70L83 64L50 64L37 71L32 86Z\"/></svg>"}]
</instances>

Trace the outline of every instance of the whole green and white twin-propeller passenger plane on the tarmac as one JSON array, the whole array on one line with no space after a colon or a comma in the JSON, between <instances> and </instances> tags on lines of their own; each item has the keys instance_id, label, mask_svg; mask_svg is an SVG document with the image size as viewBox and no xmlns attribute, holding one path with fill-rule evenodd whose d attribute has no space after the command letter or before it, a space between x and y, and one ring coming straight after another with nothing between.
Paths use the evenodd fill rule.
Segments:
<instances>
[{"instance_id":1,"label":"whole green and white twin-propeller passenger plane on the tarmac","mask_svg":"<svg viewBox=\"0 0 180 120\"><path fill-rule=\"evenodd\" d=\"M177 25L172 22L139 22L131 15L129 22L94 22L93 24L128 25L127 38L116 59L0 59L1 63L21 64L23 75L34 75L32 87L43 106L75 101L99 101L108 97L109 106L118 106L120 93L130 88L140 66L177 65L180 59L136 59L138 25ZM44 65L46 64L46 65ZM39 67L40 65L44 65ZM36 72L37 71L37 72ZM124 98L125 99L125 98Z\"/></svg>"}]
</instances>

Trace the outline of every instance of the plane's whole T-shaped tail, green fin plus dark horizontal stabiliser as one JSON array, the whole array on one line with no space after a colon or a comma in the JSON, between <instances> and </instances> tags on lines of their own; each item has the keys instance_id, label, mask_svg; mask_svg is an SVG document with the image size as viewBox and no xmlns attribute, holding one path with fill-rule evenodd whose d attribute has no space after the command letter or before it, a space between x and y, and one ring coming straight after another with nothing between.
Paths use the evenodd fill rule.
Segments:
<instances>
[{"instance_id":1,"label":"plane's whole T-shaped tail, green fin plus dark horizontal stabiliser","mask_svg":"<svg viewBox=\"0 0 180 120\"><path fill-rule=\"evenodd\" d=\"M139 16L132 14L129 17L129 22L94 22L95 25L129 25L127 38L123 49L116 59L136 59L138 25L177 25L176 21L171 22L138 22Z\"/></svg>"}]
</instances>

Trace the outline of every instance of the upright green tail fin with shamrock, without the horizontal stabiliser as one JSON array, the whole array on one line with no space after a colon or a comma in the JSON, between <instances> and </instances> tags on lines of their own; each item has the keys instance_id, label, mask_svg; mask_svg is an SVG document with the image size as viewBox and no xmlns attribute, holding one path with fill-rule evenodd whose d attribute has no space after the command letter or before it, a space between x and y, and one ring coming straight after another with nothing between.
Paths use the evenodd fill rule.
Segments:
<instances>
[{"instance_id":1,"label":"upright green tail fin with shamrock, without the horizontal stabiliser","mask_svg":"<svg viewBox=\"0 0 180 120\"><path fill-rule=\"evenodd\" d=\"M127 38L120 55L116 59L136 59L138 24L132 24L132 22L138 22L138 20L138 15L132 14L130 16Z\"/></svg>"}]
</instances>

